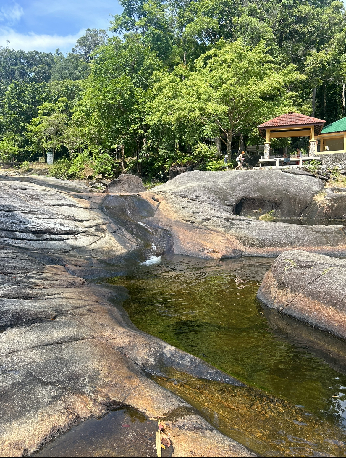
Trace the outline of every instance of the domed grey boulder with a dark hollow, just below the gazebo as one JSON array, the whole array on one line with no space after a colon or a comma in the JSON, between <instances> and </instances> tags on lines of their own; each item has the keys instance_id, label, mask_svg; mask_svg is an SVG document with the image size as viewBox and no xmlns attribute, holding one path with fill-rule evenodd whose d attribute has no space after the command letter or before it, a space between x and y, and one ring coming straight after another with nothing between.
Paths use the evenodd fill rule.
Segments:
<instances>
[{"instance_id":1,"label":"domed grey boulder with a dark hollow, just below the gazebo","mask_svg":"<svg viewBox=\"0 0 346 458\"><path fill-rule=\"evenodd\" d=\"M195 170L156 186L154 191L216 204L234 215L258 217L273 210L276 217L299 218L323 188L318 178L276 170Z\"/></svg>"}]
</instances>

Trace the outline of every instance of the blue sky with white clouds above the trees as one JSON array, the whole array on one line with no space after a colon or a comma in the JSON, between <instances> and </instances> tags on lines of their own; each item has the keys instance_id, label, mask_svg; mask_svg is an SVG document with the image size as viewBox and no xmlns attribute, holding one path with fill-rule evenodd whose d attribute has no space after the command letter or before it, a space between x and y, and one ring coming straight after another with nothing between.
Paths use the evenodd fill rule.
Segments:
<instances>
[{"instance_id":1,"label":"blue sky with white clouds above the trees","mask_svg":"<svg viewBox=\"0 0 346 458\"><path fill-rule=\"evenodd\" d=\"M0 45L30 51L67 52L86 28L107 29L117 0L0 0Z\"/></svg>"}]
</instances>

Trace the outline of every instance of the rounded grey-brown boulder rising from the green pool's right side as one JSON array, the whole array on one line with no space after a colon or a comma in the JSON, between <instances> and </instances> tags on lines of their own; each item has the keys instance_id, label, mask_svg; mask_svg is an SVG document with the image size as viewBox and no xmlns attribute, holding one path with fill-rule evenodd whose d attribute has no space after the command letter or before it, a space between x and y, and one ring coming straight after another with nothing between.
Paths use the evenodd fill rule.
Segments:
<instances>
[{"instance_id":1,"label":"rounded grey-brown boulder rising from the green pool's right side","mask_svg":"<svg viewBox=\"0 0 346 458\"><path fill-rule=\"evenodd\" d=\"M257 298L285 315L346 339L346 260L285 251L265 274Z\"/></svg>"}]
</instances>

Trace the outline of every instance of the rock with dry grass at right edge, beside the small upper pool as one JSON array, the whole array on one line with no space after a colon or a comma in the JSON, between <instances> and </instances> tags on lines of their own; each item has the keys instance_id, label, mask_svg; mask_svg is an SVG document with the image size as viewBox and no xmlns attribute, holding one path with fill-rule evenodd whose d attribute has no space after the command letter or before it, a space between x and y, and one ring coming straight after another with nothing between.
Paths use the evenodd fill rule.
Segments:
<instances>
[{"instance_id":1,"label":"rock with dry grass at right edge, beside the small upper pool","mask_svg":"<svg viewBox=\"0 0 346 458\"><path fill-rule=\"evenodd\" d=\"M346 219L346 188L326 188L303 211L302 218Z\"/></svg>"}]
</instances>

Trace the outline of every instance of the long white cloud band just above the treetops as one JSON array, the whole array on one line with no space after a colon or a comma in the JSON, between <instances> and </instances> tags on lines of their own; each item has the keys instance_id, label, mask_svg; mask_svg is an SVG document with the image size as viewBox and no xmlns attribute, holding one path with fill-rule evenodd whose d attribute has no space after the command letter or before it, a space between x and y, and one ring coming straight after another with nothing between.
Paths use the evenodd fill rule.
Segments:
<instances>
[{"instance_id":1,"label":"long white cloud band just above the treetops","mask_svg":"<svg viewBox=\"0 0 346 458\"><path fill-rule=\"evenodd\" d=\"M63 52L71 49L76 44L76 40L84 34L84 29L80 30L75 35L59 36L59 35L39 35L37 33L18 33L15 30L7 27L0 27L0 46L7 46L6 41L9 40L9 48L23 49L24 51L51 52L60 48Z\"/></svg>"}]
</instances>

